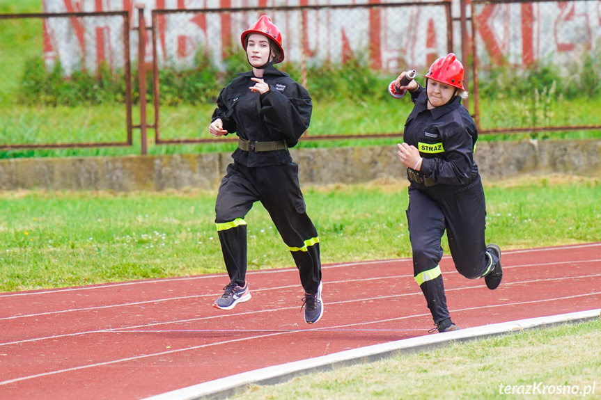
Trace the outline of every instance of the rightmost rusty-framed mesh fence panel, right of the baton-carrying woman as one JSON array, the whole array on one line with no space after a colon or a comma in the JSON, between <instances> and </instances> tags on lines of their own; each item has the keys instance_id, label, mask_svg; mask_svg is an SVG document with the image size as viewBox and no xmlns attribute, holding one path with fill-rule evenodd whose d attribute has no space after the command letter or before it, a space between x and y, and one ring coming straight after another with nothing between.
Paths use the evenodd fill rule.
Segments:
<instances>
[{"instance_id":1,"label":"rightmost rusty-framed mesh fence panel, right of the baton-carrying woman","mask_svg":"<svg viewBox=\"0 0 601 400\"><path fill-rule=\"evenodd\" d=\"M474 117L482 134L600 129L601 24L589 0L474 0Z\"/></svg>"}]
</instances>

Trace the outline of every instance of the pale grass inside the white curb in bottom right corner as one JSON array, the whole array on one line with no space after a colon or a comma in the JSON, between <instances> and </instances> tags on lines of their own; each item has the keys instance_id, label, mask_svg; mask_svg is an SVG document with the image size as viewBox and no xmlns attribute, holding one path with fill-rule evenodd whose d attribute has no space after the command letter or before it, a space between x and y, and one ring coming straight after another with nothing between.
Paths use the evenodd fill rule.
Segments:
<instances>
[{"instance_id":1,"label":"pale grass inside the white curb in bottom right corner","mask_svg":"<svg viewBox=\"0 0 601 400\"><path fill-rule=\"evenodd\" d=\"M601 321L595 319L454 343L279 385L253 385L231 399L487 400L520 394L527 399L598 399L600 366Z\"/></svg>"}]
</instances>

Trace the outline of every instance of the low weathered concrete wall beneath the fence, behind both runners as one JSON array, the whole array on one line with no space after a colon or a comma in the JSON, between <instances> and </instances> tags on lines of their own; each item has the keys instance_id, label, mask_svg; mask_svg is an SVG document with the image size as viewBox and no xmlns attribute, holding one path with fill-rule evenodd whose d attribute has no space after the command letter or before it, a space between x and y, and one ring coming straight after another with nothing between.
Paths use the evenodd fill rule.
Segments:
<instances>
[{"instance_id":1,"label":"low weathered concrete wall beneath the fence, behind both runners","mask_svg":"<svg viewBox=\"0 0 601 400\"><path fill-rule=\"evenodd\" d=\"M396 146L291 150L302 184L360 183L403 176ZM217 189L230 154L0 160L0 190ZM601 141L481 142L484 179L563 173L601 177Z\"/></svg>"}]
</instances>

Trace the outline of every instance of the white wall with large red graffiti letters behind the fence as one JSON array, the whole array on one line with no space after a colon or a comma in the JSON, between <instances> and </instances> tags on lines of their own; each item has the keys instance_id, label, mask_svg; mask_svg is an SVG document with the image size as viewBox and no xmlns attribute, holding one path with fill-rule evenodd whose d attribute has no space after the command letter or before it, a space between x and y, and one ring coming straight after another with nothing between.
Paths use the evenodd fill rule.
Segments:
<instances>
[{"instance_id":1,"label":"white wall with large red graffiti letters behind the fence","mask_svg":"<svg viewBox=\"0 0 601 400\"><path fill-rule=\"evenodd\" d=\"M130 26L138 25L135 4L150 11L214 9L215 13L180 12L157 17L159 65L186 68L194 64L199 51L216 65L224 61L228 46L239 45L240 33L260 13L221 13L222 8L274 6L334 6L354 4L357 8L270 12L279 26L286 49L286 61L308 65L325 61L343 63L345 58L367 57L374 68L394 72L406 65L426 68L437 56L446 54L448 22L445 8L432 6L391 6L361 8L379 0L42 0L45 13L97 13L130 10ZM459 1L452 0L453 51L460 54ZM382 1L381 3L391 3ZM469 3L468 3L469 4ZM468 6L467 15L471 17ZM304 24L302 24L304 21ZM471 26L468 24L468 26ZM123 26L106 17L52 18L45 20L44 56L48 67L57 60L66 74L95 70L100 63L123 67ZM538 61L563 64L598 47L601 36L601 1L544 1L536 3L483 3L476 6L478 58L483 64L509 62L531 65ZM130 36L132 59L137 35ZM468 40L474 40L471 29ZM146 61L152 47L146 48Z\"/></svg>"}]
</instances>

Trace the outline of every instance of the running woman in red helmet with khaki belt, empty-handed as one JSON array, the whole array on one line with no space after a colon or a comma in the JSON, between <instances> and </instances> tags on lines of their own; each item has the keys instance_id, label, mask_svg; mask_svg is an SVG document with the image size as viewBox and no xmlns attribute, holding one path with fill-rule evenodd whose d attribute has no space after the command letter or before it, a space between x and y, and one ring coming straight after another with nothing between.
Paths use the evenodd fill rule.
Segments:
<instances>
[{"instance_id":1,"label":"running woman in red helmet with khaki belt, empty-handed","mask_svg":"<svg viewBox=\"0 0 601 400\"><path fill-rule=\"evenodd\" d=\"M244 217L260 201L299 270L304 319L315 323L323 314L319 237L306 214L298 166L288 152L309 128L313 104L304 87L273 66L284 60L284 51L270 17L260 17L242 33L241 41L252 70L238 74L221 90L209 127L215 137L234 132L238 136L234 161L221 180L215 204L230 282L213 306L231 310L251 298Z\"/></svg>"}]
</instances>

